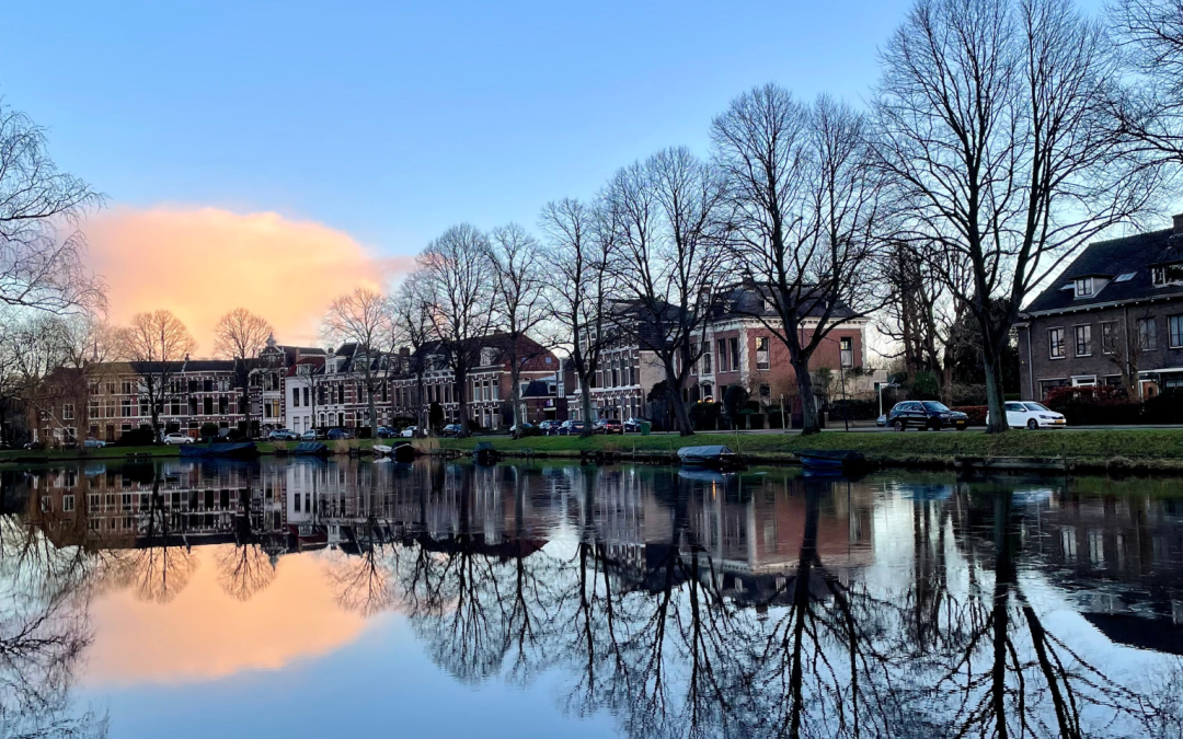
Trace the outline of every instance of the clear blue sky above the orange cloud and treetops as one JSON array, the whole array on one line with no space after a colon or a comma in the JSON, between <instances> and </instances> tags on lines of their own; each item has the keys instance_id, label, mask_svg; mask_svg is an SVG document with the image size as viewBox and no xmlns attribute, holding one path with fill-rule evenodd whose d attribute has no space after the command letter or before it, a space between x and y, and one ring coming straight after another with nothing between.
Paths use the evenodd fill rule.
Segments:
<instances>
[{"instance_id":1,"label":"clear blue sky above the orange cloud and treetops","mask_svg":"<svg viewBox=\"0 0 1183 739\"><path fill-rule=\"evenodd\" d=\"M460 220L532 227L661 147L705 154L752 85L862 99L909 5L18 0L0 93L112 205L411 254Z\"/></svg>"}]
</instances>

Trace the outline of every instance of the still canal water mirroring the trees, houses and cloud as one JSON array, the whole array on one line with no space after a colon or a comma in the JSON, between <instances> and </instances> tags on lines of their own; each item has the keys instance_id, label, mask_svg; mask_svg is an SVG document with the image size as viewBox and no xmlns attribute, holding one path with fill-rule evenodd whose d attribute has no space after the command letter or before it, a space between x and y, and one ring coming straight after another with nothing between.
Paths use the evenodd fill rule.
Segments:
<instances>
[{"instance_id":1,"label":"still canal water mirroring the trees, houses and cloud","mask_svg":"<svg viewBox=\"0 0 1183 739\"><path fill-rule=\"evenodd\" d=\"M1178 737L1183 481L2 473L0 735Z\"/></svg>"}]
</instances>

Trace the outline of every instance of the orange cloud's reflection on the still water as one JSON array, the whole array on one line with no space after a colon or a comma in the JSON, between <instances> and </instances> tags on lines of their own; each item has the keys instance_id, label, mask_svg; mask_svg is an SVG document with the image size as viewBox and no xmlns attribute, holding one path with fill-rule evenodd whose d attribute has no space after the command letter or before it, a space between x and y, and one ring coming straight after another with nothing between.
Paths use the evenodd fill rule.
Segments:
<instances>
[{"instance_id":1,"label":"orange cloud's reflection on the still water","mask_svg":"<svg viewBox=\"0 0 1183 739\"><path fill-rule=\"evenodd\" d=\"M361 634L364 620L337 605L323 558L282 558L271 586L244 602L218 583L219 549L193 550L201 566L168 604L144 603L130 590L96 601L86 682L176 683L278 669L328 654Z\"/></svg>"}]
</instances>

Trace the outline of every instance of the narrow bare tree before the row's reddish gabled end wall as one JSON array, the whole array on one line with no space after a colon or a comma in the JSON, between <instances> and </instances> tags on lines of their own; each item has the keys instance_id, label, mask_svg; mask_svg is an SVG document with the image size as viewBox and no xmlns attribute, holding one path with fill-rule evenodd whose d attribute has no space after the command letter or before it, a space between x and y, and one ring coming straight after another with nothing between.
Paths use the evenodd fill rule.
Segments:
<instances>
[{"instance_id":1,"label":"narrow bare tree before the row's reddish gabled end wall","mask_svg":"<svg viewBox=\"0 0 1183 739\"><path fill-rule=\"evenodd\" d=\"M513 426L521 428L525 421L522 417L522 370L544 356L551 343L537 342L536 337L530 336L537 332L548 317L547 265L537 239L517 223L494 228L490 247L493 328L505 336Z\"/></svg>"}]
</instances>

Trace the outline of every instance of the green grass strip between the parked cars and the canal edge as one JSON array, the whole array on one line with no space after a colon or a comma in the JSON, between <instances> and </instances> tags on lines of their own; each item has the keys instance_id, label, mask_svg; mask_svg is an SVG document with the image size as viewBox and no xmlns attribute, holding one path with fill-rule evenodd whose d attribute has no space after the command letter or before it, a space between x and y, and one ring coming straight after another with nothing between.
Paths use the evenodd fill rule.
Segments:
<instances>
[{"instance_id":1,"label":"green grass strip between the parked cars and the canal edge","mask_svg":"<svg viewBox=\"0 0 1183 739\"><path fill-rule=\"evenodd\" d=\"M799 434L696 434L687 437L660 436L531 436L513 441L505 436L478 436L442 440L444 446L472 448L491 441L503 452L531 449L543 454L578 454L581 450L670 452L691 445L722 443L745 455L776 459L799 449L854 449L880 459L952 459L953 456L1029 456L1131 460L1175 460L1183 462L1183 429L1010 432L991 435L980 430L961 433L907 432L853 433L822 432Z\"/></svg>"}]
</instances>

